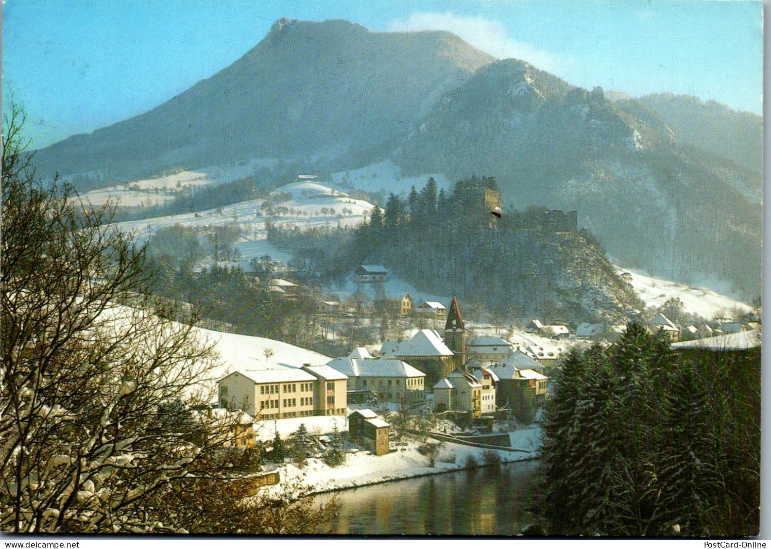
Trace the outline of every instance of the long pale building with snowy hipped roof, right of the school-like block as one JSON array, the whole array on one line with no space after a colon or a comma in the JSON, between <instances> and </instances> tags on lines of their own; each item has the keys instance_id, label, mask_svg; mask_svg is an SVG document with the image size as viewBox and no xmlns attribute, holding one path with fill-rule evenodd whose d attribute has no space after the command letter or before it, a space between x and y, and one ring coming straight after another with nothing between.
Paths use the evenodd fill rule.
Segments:
<instances>
[{"instance_id":1,"label":"long pale building with snowy hipped roof, right of the school-like block","mask_svg":"<svg viewBox=\"0 0 771 549\"><path fill-rule=\"evenodd\" d=\"M378 398L388 402L415 403L425 399L426 374L398 358L375 359L360 347L348 357L330 360L327 366L348 377L348 402L365 400L373 387Z\"/></svg>"}]
</instances>

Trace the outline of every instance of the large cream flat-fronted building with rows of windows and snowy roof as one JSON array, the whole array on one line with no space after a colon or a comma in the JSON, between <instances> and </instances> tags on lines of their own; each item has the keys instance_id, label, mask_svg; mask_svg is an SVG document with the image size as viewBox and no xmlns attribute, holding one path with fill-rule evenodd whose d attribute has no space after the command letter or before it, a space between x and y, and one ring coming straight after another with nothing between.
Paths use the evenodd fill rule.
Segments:
<instances>
[{"instance_id":1,"label":"large cream flat-fronted building with rows of windows and snowy roof","mask_svg":"<svg viewBox=\"0 0 771 549\"><path fill-rule=\"evenodd\" d=\"M344 415L344 374L327 366L237 370L217 381L220 405L257 420Z\"/></svg>"}]
</instances>

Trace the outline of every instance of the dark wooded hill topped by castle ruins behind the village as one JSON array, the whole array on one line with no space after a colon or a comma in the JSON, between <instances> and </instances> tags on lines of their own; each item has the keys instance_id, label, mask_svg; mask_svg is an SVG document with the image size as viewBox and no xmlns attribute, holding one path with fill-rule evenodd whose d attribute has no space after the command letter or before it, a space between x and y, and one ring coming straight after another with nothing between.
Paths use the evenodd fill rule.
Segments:
<instances>
[{"instance_id":1,"label":"dark wooded hill topped by castle ruins behind the village","mask_svg":"<svg viewBox=\"0 0 771 549\"><path fill-rule=\"evenodd\" d=\"M406 200L391 195L336 249L318 230L273 227L268 238L296 258L322 250L330 259L322 273L330 278L359 263L382 264L426 292L481 301L511 316L621 321L642 309L590 236L544 229L540 210L497 220L484 207L485 188L497 189L495 179L464 179L451 193L437 192L429 180Z\"/></svg>"}]
</instances>

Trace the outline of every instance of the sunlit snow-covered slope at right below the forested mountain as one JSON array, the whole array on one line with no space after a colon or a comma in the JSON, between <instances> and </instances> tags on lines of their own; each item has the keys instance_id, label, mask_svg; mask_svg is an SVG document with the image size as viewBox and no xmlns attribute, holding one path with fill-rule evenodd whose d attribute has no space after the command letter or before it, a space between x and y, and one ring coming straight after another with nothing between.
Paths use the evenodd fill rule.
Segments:
<instances>
[{"instance_id":1,"label":"sunlit snow-covered slope at right below the forested mountain","mask_svg":"<svg viewBox=\"0 0 771 549\"><path fill-rule=\"evenodd\" d=\"M640 271L615 266L617 273L629 273L631 286L650 307L662 306L668 299L678 297L684 304L685 312L695 313L707 320L715 316L733 317L736 310L751 310L752 307L731 297L722 296L709 288L685 286L650 276Z\"/></svg>"}]
</instances>

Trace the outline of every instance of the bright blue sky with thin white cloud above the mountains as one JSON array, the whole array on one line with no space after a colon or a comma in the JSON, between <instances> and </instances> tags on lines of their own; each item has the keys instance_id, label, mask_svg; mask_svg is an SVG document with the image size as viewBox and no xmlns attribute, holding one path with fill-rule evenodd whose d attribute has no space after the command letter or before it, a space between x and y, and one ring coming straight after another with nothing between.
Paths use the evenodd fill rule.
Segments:
<instances>
[{"instance_id":1,"label":"bright blue sky with thin white cloud above the mountains","mask_svg":"<svg viewBox=\"0 0 771 549\"><path fill-rule=\"evenodd\" d=\"M224 69L281 17L443 29L574 85L762 112L761 2L701 0L5 0L3 99L32 148L152 109Z\"/></svg>"}]
</instances>

